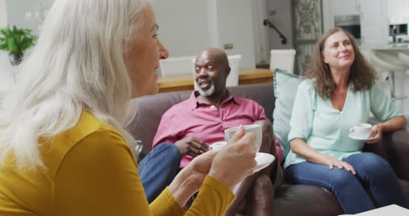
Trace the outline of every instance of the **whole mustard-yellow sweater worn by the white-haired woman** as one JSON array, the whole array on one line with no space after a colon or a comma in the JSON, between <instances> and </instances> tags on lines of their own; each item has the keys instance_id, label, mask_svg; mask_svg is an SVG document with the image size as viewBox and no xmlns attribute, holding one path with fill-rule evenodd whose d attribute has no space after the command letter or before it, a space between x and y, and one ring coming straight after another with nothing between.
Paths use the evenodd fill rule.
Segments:
<instances>
[{"instance_id":1,"label":"whole mustard-yellow sweater worn by the white-haired woman","mask_svg":"<svg viewBox=\"0 0 409 216\"><path fill-rule=\"evenodd\" d=\"M41 147L46 170L0 168L0 215L223 215L235 199L207 176L186 212L166 188L150 205L130 147L114 127L84 112Z\"/></svg>"}]
</instances>

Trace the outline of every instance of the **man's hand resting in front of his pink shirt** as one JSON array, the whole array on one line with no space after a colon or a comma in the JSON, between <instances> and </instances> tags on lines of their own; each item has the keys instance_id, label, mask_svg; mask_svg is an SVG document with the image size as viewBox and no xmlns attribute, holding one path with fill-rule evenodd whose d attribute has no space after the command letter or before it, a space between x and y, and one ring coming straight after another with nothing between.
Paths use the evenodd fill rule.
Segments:
<instances>
[{"instance_id":1,"label":"man's hand resting in front of his pink shirt","mask_svg":"<svg viewBox=\"0 0 409 216\"><path fill-rule=\"evenodd\" d=\"M209 145L194 136L182 138L180 141L177 141L175 145L177 148L179 148L182 156L190 155L193 156L193 158L202 154L203 152L209 151Z\"/></svg>"}]
</instances>

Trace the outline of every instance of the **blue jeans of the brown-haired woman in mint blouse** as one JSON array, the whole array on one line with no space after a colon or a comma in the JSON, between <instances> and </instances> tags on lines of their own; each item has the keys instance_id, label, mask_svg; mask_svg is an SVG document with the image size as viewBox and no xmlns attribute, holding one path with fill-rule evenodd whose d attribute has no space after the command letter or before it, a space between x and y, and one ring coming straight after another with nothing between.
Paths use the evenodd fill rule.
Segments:
<instances>
[{"instance_id":1,"label":"blue jeans of the brown-haired woman in mint blouse","mask_svg":"<svg viewBox=\"0 0 409 216\"><path fill-rule=\"evenodd\" d=\"M286 177L291 183L320 186L333 192L345 214L356 214L374 208L397 204L409 208L398 178L390 165L373 153L353 154L344 159L352 165L356 175L328 165L302 162L288 166ZM367 187L373 201L367 195Z\"/></svg>"}]
</instances>

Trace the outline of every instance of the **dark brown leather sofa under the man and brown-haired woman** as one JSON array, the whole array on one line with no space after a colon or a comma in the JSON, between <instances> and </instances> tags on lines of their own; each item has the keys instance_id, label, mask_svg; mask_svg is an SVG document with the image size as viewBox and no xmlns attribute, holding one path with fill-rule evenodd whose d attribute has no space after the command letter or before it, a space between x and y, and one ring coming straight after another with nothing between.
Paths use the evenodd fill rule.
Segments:
<instances>
[{"instance_id":1,"label":"dark brown leather sofa under the man and brown-haired woman","mask_svg":"<svg viewBox=\"0 0 409 216\"><path fill-rule=\"evenodd\" d=\"M272 111L275 107L272 84L241 85L230 87L229 91L234 96L250 98L259 102L266 110L266 116L272 120ZM142 155L151 150L153 137L162 114L177 102L189 98L190 93L190 91L159 93L155 96L145 96L138 99L138 114L130 124L130 130L135 139L143 142ZM403 190L409 197L409 132L400 130L383 134L381 143L366 145L364 151L375 152L392 165ZM247 189L243 188L238 198L242 199ZM342 214L342 209L336 198L324 188L284 183L276 190L274 197L275 201L272 206L274 215Z\"/></svg>"}]
</instances>

